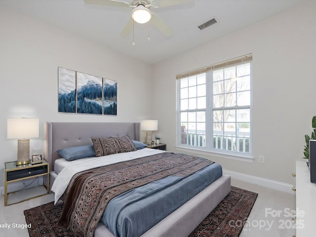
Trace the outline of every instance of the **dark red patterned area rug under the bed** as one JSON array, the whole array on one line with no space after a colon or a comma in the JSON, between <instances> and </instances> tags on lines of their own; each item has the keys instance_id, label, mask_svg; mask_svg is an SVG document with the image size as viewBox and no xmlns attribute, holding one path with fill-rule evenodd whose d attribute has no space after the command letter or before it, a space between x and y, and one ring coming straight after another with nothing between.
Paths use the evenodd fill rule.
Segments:
<instances>
[{"instance_id":1,"label":"dark red patterned area rug under the bed","mask_svg":"<svg viewBox=\"0 0 316 237\"><path fill-rule=\"evenodd\" d=\"M258 194L232 186L231 192L199 224L189 237L238 237ZM24 211L31 223L30 237L72 237L72 232L57 227L63 203L43 204Z\"/></svg>"}]
</instances>

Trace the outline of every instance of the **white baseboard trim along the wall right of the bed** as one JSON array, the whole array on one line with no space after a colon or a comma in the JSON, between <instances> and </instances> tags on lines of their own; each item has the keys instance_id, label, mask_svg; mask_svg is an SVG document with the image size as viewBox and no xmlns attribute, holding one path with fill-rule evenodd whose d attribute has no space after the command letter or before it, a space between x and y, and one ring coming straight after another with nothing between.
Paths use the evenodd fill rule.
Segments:
<instances>
[{"instance_id":1,"label":"white baseboard trim along the wall right of the bed","mask_svg":"<svg viewBox=\"0 0 316 237\"><path fill-rule=\"evenodd\" d=\"M286 184L286 183L278 182L275 180L260 178L253 175L242 174L242 173L238 173L238 172L226 170L226 169L223 169L223 174L228 174L233 179L236 179L239 181L243 181L243 182L247 182L251 184L257 184L259 186L263 186L266 188L276 189L282 192L293 194L293 190L292 190L293 185L291 184Z\"/></svg>"}]
</instances>

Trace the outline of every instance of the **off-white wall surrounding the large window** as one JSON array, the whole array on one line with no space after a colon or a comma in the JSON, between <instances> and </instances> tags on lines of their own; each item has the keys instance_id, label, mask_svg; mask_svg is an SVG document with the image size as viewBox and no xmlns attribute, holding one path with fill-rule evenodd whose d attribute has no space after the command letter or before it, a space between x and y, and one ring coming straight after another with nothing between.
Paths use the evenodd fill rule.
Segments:
<instances>
[{"instance_id":1,"label":"off-white wall surrounding the large window","mask_svg":"<svg viewBox=\"0 0 316 237\"><path fill-rule=\"evenodd\" d=\"M294 160L303 157L304 135L311 134L316 115L315 12L311 1L155 65L155 118L167 149L179 152L175 75L253 53L254 161L194 154L227 170L294 184Z\"/></svg>"}]
</instances>

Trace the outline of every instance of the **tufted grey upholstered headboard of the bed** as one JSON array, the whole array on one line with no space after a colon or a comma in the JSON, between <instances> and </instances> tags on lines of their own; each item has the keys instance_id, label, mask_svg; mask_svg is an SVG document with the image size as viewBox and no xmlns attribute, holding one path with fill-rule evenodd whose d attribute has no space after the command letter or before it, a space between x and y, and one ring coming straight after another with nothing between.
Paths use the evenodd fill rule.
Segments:
<instances>
[{"instance_id":1,"label":"tufted grey upholstered headboard of the bed","mask_svg":"<svg viewBox=\"0 0 316 237\"><path fill-rule=\"evenodd\" d=\"M139 141L139 132L139 122L45 122L44 158L52 171L59 149L92 145L91 137L129 135Z\"/></svg>"}]
</instances>

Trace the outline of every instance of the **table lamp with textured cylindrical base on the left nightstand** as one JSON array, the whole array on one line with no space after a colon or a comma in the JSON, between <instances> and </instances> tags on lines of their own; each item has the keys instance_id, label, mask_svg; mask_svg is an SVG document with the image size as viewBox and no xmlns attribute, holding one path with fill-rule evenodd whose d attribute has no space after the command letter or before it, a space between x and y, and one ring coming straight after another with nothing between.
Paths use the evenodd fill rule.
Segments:
<instances>
[{"instance_id":1,"label":"table lamp with textured cylindrical base on the left nightstand","mask_svg":"<svg viewBox=\"0 0 316 237\"><path fill-rule=\"evenodd\" d=\"M38 118L8 118L7 139L18 139L16 165L30 163L30 139L39 137Z\"/></svg>"}]
</instances>

